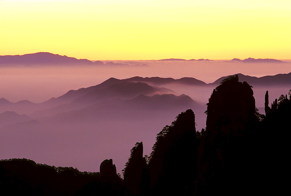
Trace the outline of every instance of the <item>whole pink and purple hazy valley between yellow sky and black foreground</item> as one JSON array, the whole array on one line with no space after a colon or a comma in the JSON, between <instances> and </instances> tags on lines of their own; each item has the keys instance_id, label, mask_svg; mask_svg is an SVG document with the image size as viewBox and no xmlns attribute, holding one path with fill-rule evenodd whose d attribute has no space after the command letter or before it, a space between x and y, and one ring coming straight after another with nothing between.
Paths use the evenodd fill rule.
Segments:
<instances>
[{"instance_id":1,"label":"whole pink and purple hazy valley between yellow sky and black foreground","mask_svg":"<svg viewBox=\"0 0 291 196\"><path fill-rule=\"evenodd\" d=\"M253 86L262 114L267 90L274 100L291 86L290 60L14 57L0 56L1 158L81 171L95 171L104 159L114 158L121 173L136 141L143 141L149 154L156 134L187 109L194 111L196 130L205 128L208 98L229 75Z\"/></svg>"}]
</instances>

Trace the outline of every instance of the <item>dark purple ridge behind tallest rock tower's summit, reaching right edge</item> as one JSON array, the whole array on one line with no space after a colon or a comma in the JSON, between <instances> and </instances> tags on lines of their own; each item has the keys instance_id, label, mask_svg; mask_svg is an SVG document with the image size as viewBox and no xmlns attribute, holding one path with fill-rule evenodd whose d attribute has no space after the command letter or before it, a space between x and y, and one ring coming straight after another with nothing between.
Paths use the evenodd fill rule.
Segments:
<instances>
[{"instance_id":1,"label":"dark purple ridge behind tallest rock tower's summit, reaching right edge","mask_svg":"<svg viewBox=\"0 0 291 196\"><path fill-rule=\"evenodd\" d=\"M262 86L263 85L264 86L291 85L291 72L287 74L267 75L263 77L254 77L254 76L249 76L249 75L243 75L241 73L234 74L234 75L238 75L240 82L248 81L250 85L262 85ZM222 80L226 79L229 76L221 77L210 84L219 85Z\"/></svg>"}]
</instances>

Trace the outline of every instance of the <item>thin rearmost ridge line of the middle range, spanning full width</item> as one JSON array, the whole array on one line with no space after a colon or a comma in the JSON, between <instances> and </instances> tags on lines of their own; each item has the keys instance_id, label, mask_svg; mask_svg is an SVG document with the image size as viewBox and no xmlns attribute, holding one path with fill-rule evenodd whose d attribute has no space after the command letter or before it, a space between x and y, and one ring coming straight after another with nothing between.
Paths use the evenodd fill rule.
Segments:
<instances>
[{"instance_id":1,"label":"thin rearmost ridge line of the middle range, spanning full width","mask_svg":"<svg viewBox=\"0 0 291 196\"><path fill-rule=\"evenodd\" d=\"M236 75L236 74L234 74ZM277 74L277 75L271 75L271 76L263 76L263 77L253 77L253 76L248 76L248 75L243 75L241 73L237 73L239 77L240 82L247 81L250 85L261 85L261 86L268 86L268 85L291 85L291 72L287 74ZM0 98L0 105L4 106L9 106L10 110L13 110L13 108L19 107L19 106L24 106L25 110L29 110L30 108L38 105L42 105L46 107L46 105L49 105L50 107L56 107L57 105L64 104L64 103L70 103L71 101L80 98L84 96L87 93L90 93L92 91L99 91L102 89L107 89L109 86L113 84L120 84L123 82L141 82L141 83L146 83L148 85L157 85L157 86L162 86L164 84L179 84L179 85L196 85L196 86L208 86L208 85L219 85L220 82L224 79L226 79L228 76L220 77L216 81L206 84L205 82L201 80L197 80L192 77L183 77L180 79L173 79L173 78L162 78L162 77L131 77L127 79L116 79L116 78L109 78L108 80L105 80L104 82L97 84L95 86L89 86L87 88L81 88L78 90L70 90L67 93L63 94L62 96L59 96L58 98L51 98L43 103L32 103L28 100L22 100L17 103L12 103L5 98ZM156 88L157 91L159 91ZM174 93L173 91L171 92L170 89L161 89L161 91L167 91L168 93ZM6 109L9 109L6 108ZM40 108L40 110L43 110L45 108ZM4 110L4 108L3 108ZM7 110L0 110L0 112L4 112ZM14 111L14 110L13 110ZM19 111L16 111L19 112ZM22 112L20 112L22 113Z\"/></svg>"}]
</instances>

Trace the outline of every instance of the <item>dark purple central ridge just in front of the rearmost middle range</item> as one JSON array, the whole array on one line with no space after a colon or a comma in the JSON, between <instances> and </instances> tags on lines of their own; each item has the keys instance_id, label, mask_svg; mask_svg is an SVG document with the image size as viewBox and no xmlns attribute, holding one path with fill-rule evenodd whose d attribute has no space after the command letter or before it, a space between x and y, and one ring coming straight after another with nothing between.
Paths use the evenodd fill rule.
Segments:
<instances>
[{"instance_id":1,"label":"dark purple central ridge just in front of the rearmost middle range","mask_svg":"<svg viewBox=\"0 0 291 196\"><path fill-rule=\"evenodd\" d=\"M94 103L102 102L105 100L113 100L113 99L125 100L125 99L132 99L139 95L152 96L155 94L175 93L171 91L170 89L154 87L154 86L150 86L146 83L141 83L141 82L126 82L126 81L117 80L115 78L111 78L99 85L91 86L91 87L92 88L88 87L91 90L89 90L88 88L83 89L82 93L80 93L78 90L69 91L71 92L69 98L72 100L70 101L70 103L60 104L56 107L51 107L47 110L39 110L39 111L33 112L31 116L35 118L44 117L44 116L52 116L61 112L79 110L88 105L92 105ZM69 96L68 93L66 94L67 96ZM69 100L69 98L67 97L67 100ZM139 104L144 105L143 103L139 103Z\"/></svg>"}]
</instances>

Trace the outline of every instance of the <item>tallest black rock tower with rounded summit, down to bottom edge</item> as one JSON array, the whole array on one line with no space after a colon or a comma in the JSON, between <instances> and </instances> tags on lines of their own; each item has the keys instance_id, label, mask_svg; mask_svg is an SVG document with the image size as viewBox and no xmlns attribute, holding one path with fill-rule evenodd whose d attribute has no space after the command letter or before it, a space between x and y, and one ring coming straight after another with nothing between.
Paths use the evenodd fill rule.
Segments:
<instances>
[{"instance_id":1,"label":"tallest black rock tower with rounded summit, down to bottom edge","mask_svg":"<svg viewBox=\"0 0 291 196\"><path fill-rule=\"evenodd\" d=\"M205 136L198 148L196 195L230 193L242 179L244 135L258 122L251 86L230 77L214 89L207 106ZM238 177L240 176L240 177Z\"/></svg>"}]
</instances>

